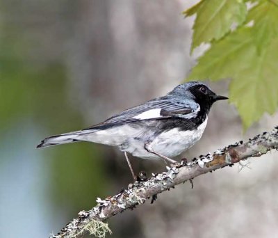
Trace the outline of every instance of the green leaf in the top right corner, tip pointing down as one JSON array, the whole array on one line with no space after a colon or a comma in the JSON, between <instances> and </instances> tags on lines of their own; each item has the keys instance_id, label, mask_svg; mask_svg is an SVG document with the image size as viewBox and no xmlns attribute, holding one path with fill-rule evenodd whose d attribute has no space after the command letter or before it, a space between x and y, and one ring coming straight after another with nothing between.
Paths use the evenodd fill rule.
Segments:
<instances>
[{"instance_id":1,"label":"green leaf in the top right corner, tip pointing down","mask_svg":"<svg viewBox=\"0 0 278 238\"><path fill-rule=\"evenodd\" d=\"M252 8L247 22L254 21L252 33L259 54L272 38L278 36L278 7L271 1L264 1Z\"/></svg>"}]
</instances>

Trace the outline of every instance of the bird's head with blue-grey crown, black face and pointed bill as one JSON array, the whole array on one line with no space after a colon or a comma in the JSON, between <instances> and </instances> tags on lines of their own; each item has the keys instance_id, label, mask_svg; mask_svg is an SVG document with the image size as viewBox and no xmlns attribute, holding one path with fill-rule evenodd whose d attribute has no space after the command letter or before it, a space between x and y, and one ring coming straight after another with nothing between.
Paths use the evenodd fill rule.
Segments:
<instances>
[{"instance_id":1,"label":"bird's head with blue-grey crown, black face and pointed bill","mask_svg":"<svg viewBox=\"0 0 278 238\"><path fill-rule=\"evenodd\" d=\"M190 81L186 84L180 84L174 88L169 95L177 95L185 97L190 100L194 100L198 104L206 104L211 106L213 102L218 100L227 100L228 97L216 95L211 88L208 88L206 84L198 81Z\"/></svg>"}]
</instances>

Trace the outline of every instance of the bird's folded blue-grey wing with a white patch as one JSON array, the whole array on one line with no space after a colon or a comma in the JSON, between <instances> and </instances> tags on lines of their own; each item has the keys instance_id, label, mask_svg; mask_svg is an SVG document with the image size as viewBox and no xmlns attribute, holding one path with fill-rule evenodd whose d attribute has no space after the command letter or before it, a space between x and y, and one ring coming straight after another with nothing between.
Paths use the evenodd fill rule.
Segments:
<instances>
[{"instance_id":1,"label":"bird's folded blue-grey wing with a white patch","mask_svg":"<svg viewBox=\"0 0 278 238\"><path fill-rule=\"evenodd\" d=\"M154 120L164 118L193 118L200 110L199 104L193 100L183 100L177 97L159 97L149 102L122 111L98 125L87 129L94 129L106 125L122 125L141 120ZM85 129L86 130L86 129Z\"/></svg>"}]
</instances>

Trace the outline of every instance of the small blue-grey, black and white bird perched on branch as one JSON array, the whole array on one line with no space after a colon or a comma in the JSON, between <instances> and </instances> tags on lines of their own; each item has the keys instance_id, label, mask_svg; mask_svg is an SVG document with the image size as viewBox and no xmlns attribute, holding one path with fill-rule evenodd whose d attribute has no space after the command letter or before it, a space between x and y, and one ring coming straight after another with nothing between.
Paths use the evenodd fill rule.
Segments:
<instances>
[{"instance_id":1,"label":"small blue-grey, black and white bird perched on branch","mask_svg":"<svg viewBox=\"0 0 278 238\"><path fill-rule=\"evenodd\" d=\"M88 141L117 146L126 158L131 175L137 177L128 154L142 159L172 159L202 137L214 102L228 97L216 95L199 81L179 84L170 93L126 109L97 125L44 138L37 148Z\"/></svg>"}]
</instances>

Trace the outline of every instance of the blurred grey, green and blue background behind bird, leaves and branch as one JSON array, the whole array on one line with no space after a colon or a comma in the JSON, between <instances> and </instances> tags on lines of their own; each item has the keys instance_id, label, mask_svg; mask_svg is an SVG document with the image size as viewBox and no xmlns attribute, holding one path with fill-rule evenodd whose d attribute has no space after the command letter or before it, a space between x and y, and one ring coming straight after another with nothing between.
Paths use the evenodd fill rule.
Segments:
<instances>
[{"instance_id":1,"label":"blurred grey, green and blue background behind bird, leaves and branch","mask_svg":"<svg viewBox=\"0 0 278 238\"><path fill-rule=\"evenodd\" d=\"M52 134L89 127L183 82L197 1L0 0L0 237L48 237L96 198L132 181L124 155L74 143L36 150ZM229 81L208 83L227 95ZM211 110L193 158L271 129L263 116L246 134L233 105ZM277 152L197 177L109 220L112 237L275 237ZM275 160L276 158L276 160ZM150 175L161 161L131 159Z\"/></svg>"}]
</instances>

